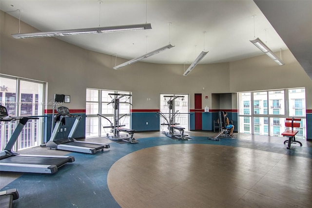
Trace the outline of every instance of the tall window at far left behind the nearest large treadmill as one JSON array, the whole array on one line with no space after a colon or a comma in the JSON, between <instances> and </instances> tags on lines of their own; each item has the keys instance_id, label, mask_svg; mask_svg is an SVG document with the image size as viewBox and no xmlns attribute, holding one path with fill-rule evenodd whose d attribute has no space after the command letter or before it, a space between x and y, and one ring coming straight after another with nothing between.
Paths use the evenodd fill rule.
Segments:
<instances>
[{"instance_id":1,"label":"tall window at far left behind the nearest large treadmill","mask_svg":"<svg viewBox=\"0 0 312 208\"><path fill-rule=\"evenodd\" d=\"M7 108L10 116L43 115L45 83L1 75L0 85L0 103ZM42 143L42 121L42 117L39 117L39 120L29 120L26 123L14 146L14 151L39 146ZM18 121L1 123L0 148L2 150L12 136Z\"/></svg>"}]
</instances>

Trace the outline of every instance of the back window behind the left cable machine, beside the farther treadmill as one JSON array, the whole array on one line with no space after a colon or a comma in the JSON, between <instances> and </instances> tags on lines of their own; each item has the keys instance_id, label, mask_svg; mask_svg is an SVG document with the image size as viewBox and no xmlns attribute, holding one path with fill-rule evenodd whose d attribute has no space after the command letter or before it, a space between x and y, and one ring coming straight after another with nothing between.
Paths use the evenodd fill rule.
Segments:
<instances>
[{"instance_id":1,"label":"back window behind the left cable machine, beside the farther treadmill","mask_svg":"<svg viewBox=\"0 0 312 208\"><path fill-rule=\"evenodd\" d=\"M114 123L114 106L111 103L114 99L109 94L132 94L126 91L114 91L103 89L87 89L86 90L86 137L106 136L110 133L110 122ZM130 104L129 104L130 103ZM130 129L130 110L132 99L128 96L119 100L119 122L124 128ZM98 118L97 114L105 116L107 119Z\"/></svg>"}]
</instances>

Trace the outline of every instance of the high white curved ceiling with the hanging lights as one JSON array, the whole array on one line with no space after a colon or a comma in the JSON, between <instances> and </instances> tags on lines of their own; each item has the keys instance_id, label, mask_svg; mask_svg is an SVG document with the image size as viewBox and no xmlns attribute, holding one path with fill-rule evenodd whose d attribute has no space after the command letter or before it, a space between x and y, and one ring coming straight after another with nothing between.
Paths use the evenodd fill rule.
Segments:
<instances>
[{"instance_id":1,"label":"high white curved ceiling with the hanging lights","mask_svg":"<svg viewBox=\"0 0 312 208\"><path fill-rule=\"evenodd\" d=\"M278 56L280 49L288 49L253 0L0 0L0 9L16 18L20 15L21 21L40 31L151 23L152 29L145 31L59 38L125 59L169 42L175 45L144 62L190 64L202 50L209 53L200 63L262 55L250 42L254 37ZM18 27L11 31L18 32ZM37 31L20 28L20 33L28 32ZM121 62L117 59L117 64Z\"/></svg>"}]
</instances>

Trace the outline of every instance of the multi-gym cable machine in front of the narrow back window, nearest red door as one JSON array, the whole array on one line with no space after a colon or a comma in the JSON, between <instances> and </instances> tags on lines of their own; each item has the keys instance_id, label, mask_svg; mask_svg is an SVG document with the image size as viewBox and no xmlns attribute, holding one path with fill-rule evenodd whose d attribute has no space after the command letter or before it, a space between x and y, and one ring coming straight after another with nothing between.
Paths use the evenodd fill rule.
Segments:
<instances>
[{"instance_id":1,"label":"multi-gym cable machine in front of the narrow back window, nearest red door","mask_svg":"<svg viewBox=\"0 0 312 208\"><path fill-rule=\"evenodd\" d=\"M174 101L177 98L184 98L184 96L177 96L177 95L164 95L164 98L170 98L169 101L167 102L168 107L169 107L169 118L167 118L165 116L164 113L162 113L161 111L158 111L157 114L159 116L161 116L167 123L163 123L160 125L168 125L168 130L169 131L163 131L162 133L164 133L167 137L170 138L176 138L177 140L189 140L192 139L191 137L189 137L188 135L184 134L184 127L182 126L178 126L178 123L175 123L175 118L177 115L179 115L180 113L178 112L178 110L176 112L174 112Z\"/></svg>"}]
</instances>

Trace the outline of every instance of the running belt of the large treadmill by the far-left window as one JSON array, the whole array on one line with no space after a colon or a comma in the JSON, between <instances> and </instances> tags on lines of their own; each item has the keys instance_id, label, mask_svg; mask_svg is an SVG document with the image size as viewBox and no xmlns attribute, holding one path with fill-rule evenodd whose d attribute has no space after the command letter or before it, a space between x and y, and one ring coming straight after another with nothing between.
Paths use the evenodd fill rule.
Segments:
<instances>
[{"instance_id":1,"label":"running belt of the large treadmill by the far-left window","mask_svg":"<svg viewBox=\"0 0 312 208\"><path fill-rule=\"evenodd\" d=\"M69 158L53 158L53 157L24 157L12 156L0 160L0 163L14 163L14 164L33 164L33 165L55 165L60 167L65 163L70 163Z\"/></svg>"}]
</instances>

